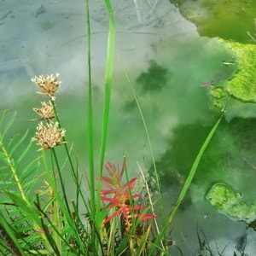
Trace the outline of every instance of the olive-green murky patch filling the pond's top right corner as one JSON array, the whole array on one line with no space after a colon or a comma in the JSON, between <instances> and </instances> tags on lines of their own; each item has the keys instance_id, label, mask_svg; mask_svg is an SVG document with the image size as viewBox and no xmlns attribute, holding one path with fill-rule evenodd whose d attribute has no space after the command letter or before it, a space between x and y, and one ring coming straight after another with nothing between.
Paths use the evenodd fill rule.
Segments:
<instances>
[{"instance_id":1,"label":"olive-green murky patch filling the pond's top right corner","mask_svg":"<svg viewBox=\"0 0 256 256\"><path fill-rule=\"evenodd\" d=\"M255 30L256 6L253 1L170 0L170 2L177 4L183 17L195 23L201 36L252 43L252 38L247 36L247 32L254 33Z\"/></svg>"}]
</instances>

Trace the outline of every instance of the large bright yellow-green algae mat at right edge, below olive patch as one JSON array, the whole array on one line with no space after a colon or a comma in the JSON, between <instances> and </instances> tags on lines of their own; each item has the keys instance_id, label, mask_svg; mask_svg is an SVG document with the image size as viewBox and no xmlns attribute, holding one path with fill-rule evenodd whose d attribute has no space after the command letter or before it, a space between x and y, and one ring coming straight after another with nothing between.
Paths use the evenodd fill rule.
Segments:
<instances>
[{"instance_id":1,"label":"large bright yellow-green algae mat at right edge, below olive patch","mask_svg":"<svg viewBox=\"0 0 256 256\"><path fill-rule=\"evenodd\" d=\"M234 53L234 60L228 60L230 66L227 66L233 69L233 73L222 84L210 87L212 105L221 109L229 101L226 119L256 117L256 44L218 40Z\"/></svg>"}]
</instances>

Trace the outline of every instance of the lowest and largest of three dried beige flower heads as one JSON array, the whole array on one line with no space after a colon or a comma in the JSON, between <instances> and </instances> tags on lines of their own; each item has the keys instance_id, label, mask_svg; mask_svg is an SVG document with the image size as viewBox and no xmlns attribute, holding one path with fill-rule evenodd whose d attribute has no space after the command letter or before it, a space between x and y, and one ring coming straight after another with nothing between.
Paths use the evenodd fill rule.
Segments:
<instances>
[{"instance_id":1,"label":"lowest and largest of three dried beige flower heads","mask_svg":"<svg viewBox=\"0 0 256 256\"><path fill-rule=\"evenodd\" d=\"M46 125L44 126L43 122L41 122L37 127L35 137L32 137L32 141L37 142L37 145L41 146L39 150L54 148L55 146L66 143L62 141L66 130L59 128L58 122L55 122L55 124L47 123Z\"/></svg>"}]
</instances>

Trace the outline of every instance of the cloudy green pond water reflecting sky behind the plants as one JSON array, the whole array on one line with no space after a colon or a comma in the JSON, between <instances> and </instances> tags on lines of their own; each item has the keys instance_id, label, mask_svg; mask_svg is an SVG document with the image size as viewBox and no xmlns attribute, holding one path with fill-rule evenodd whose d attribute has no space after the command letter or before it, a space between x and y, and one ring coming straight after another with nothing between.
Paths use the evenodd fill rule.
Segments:
<instances>
[{"instance_id":1,"label":"cloudy green pond water reflecting sky behind the plants","mask_svg":"<svg viewBox=\"0 0 256 256\"><path fill-rule=\"evenodd\" d=\"M98 160L108 15L102 1L90 2ZM131 0L112 2L117 26L116 51L143 110L167 214L201 144L218 119L220 112L212 105L210 85L225 83L236 67L223 63L233 61L234 53L213 38L222 34L201 37L195 24L180 15L177 3L159 1L155 7L149 1L137 3L138 8ZM81 170L87 168L85 22L84 1L26 0L20 6L14 0L0 2L0 109L18 111L14 132L24 133L29 128L32 137L36 124L27 120L35 118L32 108L38 107L44 97L35 94L37 88L30 78L60 73L62 84L56 105L62 126L67 129L68 142L74 143L79 154ZM252 108L254 103L250 104ZM234 108L230 116L229 108L227 111L227 118L201 160L189 195L172 222L170 236L183 255L199 252L197 234L208 242L214 255L222 251L223 255L256 252L253 229L218 212L206 201L213 183L227 183L241 192L243 201L254 203L256 119L247 113L242 116L241 111L236 116ZM123 154L131 177L138 173L137 162L152 169L143 122L116 57L106 160L120 163ZM177 247L171 247L173 255L179 255Z\"/></svg>"}]
</instances>

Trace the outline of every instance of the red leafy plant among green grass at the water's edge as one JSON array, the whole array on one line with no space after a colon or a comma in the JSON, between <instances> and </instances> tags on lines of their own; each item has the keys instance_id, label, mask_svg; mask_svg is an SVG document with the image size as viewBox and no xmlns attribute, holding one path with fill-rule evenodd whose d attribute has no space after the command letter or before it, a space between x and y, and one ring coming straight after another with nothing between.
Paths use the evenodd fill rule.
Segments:
<instances>
[{"instance_id":1,"label":"red leafy plant among green grass at the water's edge","mask_svg":"<svg viewBox=\"0 0 256 256\"><path fill-rule=\"evenodd\" d=\"M140 212L146 207L135 206L133 203L133 200L140 196L139 194L132 194L132 189L135 187L138 176L131 178L127 183L121 184L121 179L125 172L125 162L123 162L121 170L119 166L115 166L110 162L104 167L108 171L108 176L102 176L101 180L107 189L101 190L101 200L108 202L108 211L111 209L115 211L108 218L105 218L103 224L107 224L111 219L119 216L125 224L125 230L122 233L123 235L128 235L134 219L139 219L139 221L143 222L150 218L155 218L153 214Z\"/></svg>"}]
</instances>

